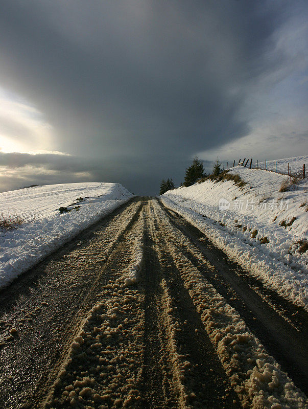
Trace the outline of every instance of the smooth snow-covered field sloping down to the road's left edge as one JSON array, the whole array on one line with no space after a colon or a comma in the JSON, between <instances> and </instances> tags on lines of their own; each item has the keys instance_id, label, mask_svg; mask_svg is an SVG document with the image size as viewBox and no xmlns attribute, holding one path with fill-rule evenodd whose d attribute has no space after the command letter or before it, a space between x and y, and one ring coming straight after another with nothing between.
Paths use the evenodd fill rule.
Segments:
<instances>
[{"instance_id":1,"label":"smooth snow-covered field sloping down to the road's left edge","mask_svg":"<svg viewBox=\"0 0 308 409\"><path fill-rule=\"evenodd\" d=\"M115 183L47 185L1 193L0 213L17 215L25 223L0 232L0 288L131 197ZM61 214L60 207L68 212Z\"/></svg>"}]
</instances>

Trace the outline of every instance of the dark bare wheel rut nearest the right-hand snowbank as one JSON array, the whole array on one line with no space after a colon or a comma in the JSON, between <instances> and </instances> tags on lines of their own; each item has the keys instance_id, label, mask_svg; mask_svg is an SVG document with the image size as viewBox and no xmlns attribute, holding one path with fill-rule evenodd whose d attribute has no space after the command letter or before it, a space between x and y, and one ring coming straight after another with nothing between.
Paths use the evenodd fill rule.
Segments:
<instances>
[{"instance_id":1,"label":"dark bare wheel rut nearest the right-hand snowbank","mask_svg":"<svg viewBox=\"0 0 308 409\"><path fill-rule=\"evenodd\" d=\"M215 253L208 239L206 247L200 241L202 234L198 229L161 206L172 225L189 241L189 245L178 246L178 251L191 260L228 303L240 312L283 370L303 392L308 393L307 313L266 289L255 278L247 276L219 249L215 248L218 254Z\"/></svg>"}]
</instances>

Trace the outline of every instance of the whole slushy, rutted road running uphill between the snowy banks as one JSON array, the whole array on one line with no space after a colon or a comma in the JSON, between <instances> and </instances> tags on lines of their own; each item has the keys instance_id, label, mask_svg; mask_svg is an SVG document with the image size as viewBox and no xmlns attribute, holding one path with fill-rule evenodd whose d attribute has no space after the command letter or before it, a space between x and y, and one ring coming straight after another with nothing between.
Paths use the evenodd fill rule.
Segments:
<instances>
[{"instance_id":1,"label":"whole slushy, rutted road running uphill between the snowy banks","mask_svg":"<svg viewBox=\"0 0 308 409\"><path fill-rule=\"evenodd\" d=\"M0 320L2 407L307 404L307 313L155 198L20 276Z\"/></svg>"}]
</instances>

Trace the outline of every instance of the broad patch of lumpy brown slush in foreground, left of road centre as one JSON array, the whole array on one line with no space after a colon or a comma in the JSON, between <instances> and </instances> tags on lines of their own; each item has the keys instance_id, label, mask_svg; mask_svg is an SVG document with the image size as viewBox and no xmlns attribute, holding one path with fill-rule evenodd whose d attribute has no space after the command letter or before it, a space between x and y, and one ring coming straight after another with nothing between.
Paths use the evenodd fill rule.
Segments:
<instances>
[{"instance_id":1,"label":"broad patch of lumpy brown slush in foreground, left of road centre","mask_svg":"<svg viewBox=\"0 0 308 409\"><path fill-rule=\"evenodd\" d=\"M110 281L101 297L70 346L45 407L127 407L140 399L143 296Z\"/></svg>"}]
</instances>

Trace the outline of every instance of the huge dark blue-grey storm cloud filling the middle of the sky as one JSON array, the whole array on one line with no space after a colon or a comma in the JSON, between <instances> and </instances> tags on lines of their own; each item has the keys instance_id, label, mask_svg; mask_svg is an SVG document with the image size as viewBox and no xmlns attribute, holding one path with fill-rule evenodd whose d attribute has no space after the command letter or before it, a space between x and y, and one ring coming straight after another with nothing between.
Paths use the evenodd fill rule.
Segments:
<instances>
[{"instance_id":1,"label":"huge dark blue-grey storm cloud filling the middle of the sky","mask_svg":"<svg viewBox=\"0 0 308 409\"><path fill-rule=\"evenodd\" d=\"M301 0L0 5L0 84L44 113L56 150L79 158L44 166L79 166L140 194L181 181L196 152L249 134L243 106L290 63L274 34L305 10Z\"/></svg>"}]
</instances>

